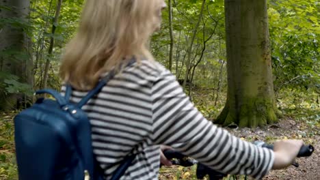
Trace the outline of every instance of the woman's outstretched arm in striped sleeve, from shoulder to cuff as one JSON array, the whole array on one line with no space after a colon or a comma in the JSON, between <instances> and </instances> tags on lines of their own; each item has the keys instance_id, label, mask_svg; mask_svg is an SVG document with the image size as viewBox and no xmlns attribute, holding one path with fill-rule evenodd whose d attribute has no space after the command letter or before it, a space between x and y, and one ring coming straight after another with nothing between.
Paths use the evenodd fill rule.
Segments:
<instances>
[{"instance_id":1,"label":"woman's outstretched arm in striped sleeve, from shoulder to cuff","mask_svg":"<svg viewBox=\"0 0 320 180\"><path fill-rule=\"evenodd\" d=\"M176 78L165 71L152 87L152 140L168 145L220 172L261 178L274 164L274 152L232 136L207 121Z\"/></svg>"}]
</instances>

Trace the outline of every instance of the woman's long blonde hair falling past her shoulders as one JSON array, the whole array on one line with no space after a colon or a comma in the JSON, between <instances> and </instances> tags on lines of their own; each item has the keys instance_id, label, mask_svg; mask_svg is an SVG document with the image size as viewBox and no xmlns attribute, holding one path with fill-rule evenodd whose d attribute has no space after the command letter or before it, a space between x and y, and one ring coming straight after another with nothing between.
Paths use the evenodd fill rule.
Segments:
<instances>
[{"instance_id":1,"label":"woman's long blonde hair falling past her shoulders","mask_svg":"<svg viewBox=\"0 0 320 180\"><path fill-rule=\"evenodd\" d=\"M76 89L91 89L101 74L135 57L152 60L148 40L161 0L87 0L79 29L66 46L60 76Z\"/></svg>"}]
</instances>

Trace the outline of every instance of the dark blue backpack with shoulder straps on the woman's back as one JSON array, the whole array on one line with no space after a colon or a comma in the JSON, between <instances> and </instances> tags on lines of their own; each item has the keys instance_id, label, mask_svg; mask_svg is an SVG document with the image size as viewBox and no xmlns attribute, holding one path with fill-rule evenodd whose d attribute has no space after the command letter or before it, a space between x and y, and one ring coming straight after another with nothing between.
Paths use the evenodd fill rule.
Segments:
<instances>
[{"instance_id":1,"label":"dark blue backpack with shoulder straps on the woman's back","mask_svg":"<svg viewBox=\"0 0 320 180\"><path fill-rule=\"evenodd\" d=\"M53 89L36 91L49 93L55 100L40 98L14 117L20 180L103 179L92 151L90 121L81 107L113 76L114 72L110 72L78 104L69 102L70 85L66 85L65 96ZM120 179L134 158L135 155L124 158L112 180Z\"/></svg>"}]
</instances>

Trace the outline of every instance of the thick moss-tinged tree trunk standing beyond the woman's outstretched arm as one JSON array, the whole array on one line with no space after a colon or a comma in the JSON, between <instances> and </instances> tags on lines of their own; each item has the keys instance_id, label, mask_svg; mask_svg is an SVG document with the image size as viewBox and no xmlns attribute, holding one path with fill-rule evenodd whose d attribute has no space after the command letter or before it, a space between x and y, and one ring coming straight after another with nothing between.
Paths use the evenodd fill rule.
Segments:
<instances>
[{"instance_id":1,"label":"thick moss-tinged tree trunk standing beyond the woman's outstretched arm","mask_svg":"<svg viewBox=\"0 0 320 180\"><path fill-rule=\"evenodd\" d=\"M217 123L240 127L277 121L267 0L226 0L228 95Z\"/></svg>"}]
</instances>

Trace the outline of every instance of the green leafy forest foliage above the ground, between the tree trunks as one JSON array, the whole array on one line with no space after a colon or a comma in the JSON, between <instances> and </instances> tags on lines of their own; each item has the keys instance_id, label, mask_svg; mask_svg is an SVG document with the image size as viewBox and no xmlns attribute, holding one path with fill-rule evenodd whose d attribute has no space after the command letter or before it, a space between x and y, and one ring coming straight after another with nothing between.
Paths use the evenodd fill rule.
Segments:
<instances>
[{"instance_id":1,"label":"green leafy forest foliage above the ground, between the tree trunks","mask_svg":"<svg viewBox=\"0 0 320 180\"><path fill-rule=\"evenodd\" d=\"M42 87L44 66L50 61L48 86L59 89L59 61L65 44L74 35L83 0L62 2L57 23L53 23L58 1L31 1L29 21L18 18L1 18L0 27L18 26L31 37L31 52L1 50L1 57L14 56L16 59L31 58L34 62L34 85L19 82L10 72L1 71L0 87L7 93L30 94ZM212 89L212 100L222 100L226 93L226 44L224 3L219 0L172 1L173 62L172 73L178 80L185 78L192 85L189 95L198 89ZM6 7L1 7L6 8ZM295 90L319 98L319 3L308 1L268 1L271 55L274 69L274 90ZM199 17L202 18L199 18ZM200 23L198 20L200 19ZM196 27L198 23L198 27ZM52 27L56 30L53 34ZM161 31L152 36L150 47L157 61L169 65L170 28L168 11L163 13ZM195 39L190 44L193 34ZM54 39L53 52L49 54L51 37ZM192 48L189 48L192 46ZM191 49L190 69L186 70L188 50ZM30 57L31 55L31 57ZM318 95L318 97L317 97ZM217 103L215 103L216 105Z\"/></svg>"}]
</instances>

